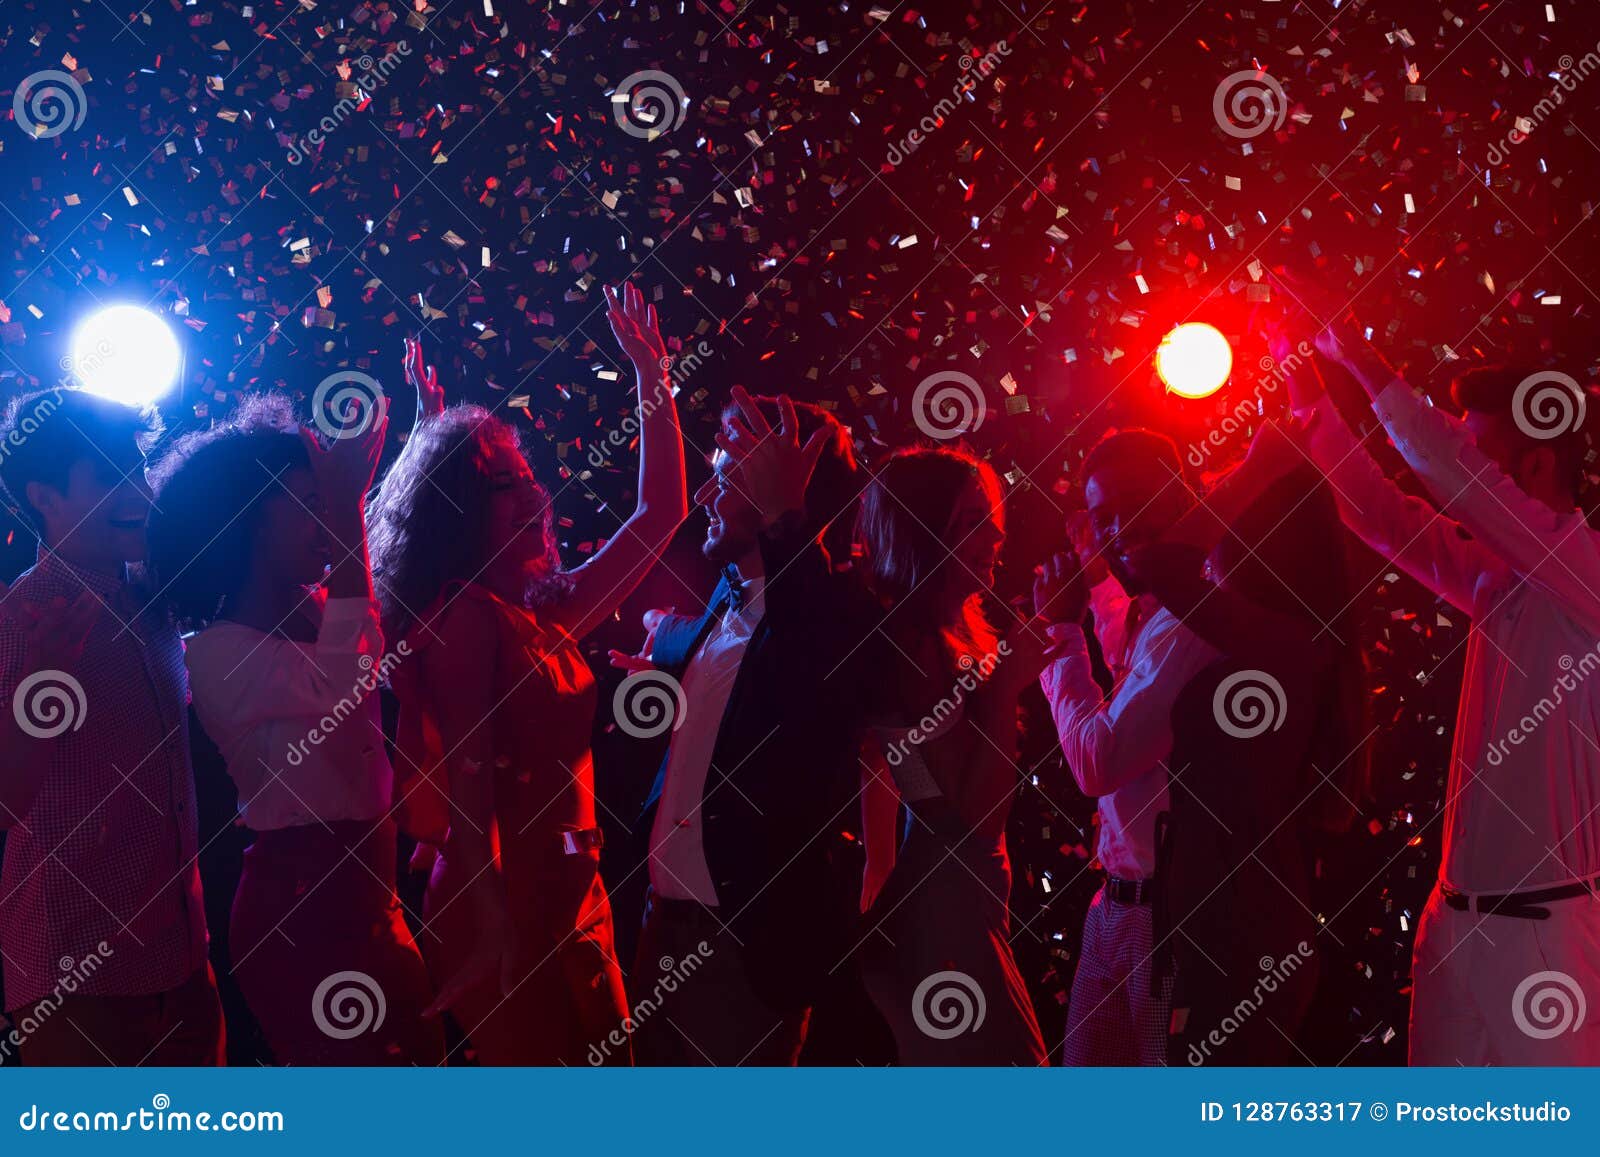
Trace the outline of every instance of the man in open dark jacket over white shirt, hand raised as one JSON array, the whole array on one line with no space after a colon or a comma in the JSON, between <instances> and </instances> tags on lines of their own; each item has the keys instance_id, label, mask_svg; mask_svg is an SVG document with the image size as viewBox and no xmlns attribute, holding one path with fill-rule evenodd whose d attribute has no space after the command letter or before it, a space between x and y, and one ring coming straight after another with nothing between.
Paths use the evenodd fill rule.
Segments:
<instances>
[{"instance_id":1,"label":"man in open dark jacket over white shirt, hand raised","mask_svg":"<svg viewBox=\"0 0 1600 1157\"><path fill-rule=\"evenodd\" d=\"M694 501L723 579L702 615L653 615L638 656L613 653L682 696L640 821L640 1064L794 1064L848 978L862 887L851 720L872 607L822 546L859 490L850 434L734 387L717 445Z\"/></svg>"}]
</instances>

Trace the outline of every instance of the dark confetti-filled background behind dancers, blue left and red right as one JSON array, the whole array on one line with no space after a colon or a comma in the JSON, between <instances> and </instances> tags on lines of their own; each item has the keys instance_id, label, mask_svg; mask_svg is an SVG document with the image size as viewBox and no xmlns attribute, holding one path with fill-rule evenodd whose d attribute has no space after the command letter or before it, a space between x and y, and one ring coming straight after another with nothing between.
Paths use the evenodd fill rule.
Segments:
<instances>
[{"instance_id":1,"label":"dark confetti-filled background behind dancers, blue left and red right","mask_svg":"<svg viewBox=\"0 0 1600 1157\"><path fill-rule=\"evenodd\" d=\"M0 125L0 394L58 381L72 326L112 301L182 326L182 394L163 406L174 427L246 390L307 397L341 368L381 378L408 408L400 339L421 333L451 397L506 406L523 427L576 563L632 502L629 448L598 470L584 462L630 405L627 371L602 376L621 366L598 286L632 277L669 338L712 347L680 397L691 486L734 382L834 406L870 461L915 437L922 378L976 378L987 416L970 443L1011 485L1002 594L1016 594L1061 546L1070 475L1107 427L1157 426L1189 446L1251 392L1259 320L1275 307L1251 290L1259 264L1354 299L1392 360L1440 394L1453 371L1493 360L1594 378L1590 0L1554 0L1554 22L1544 0L683 8L267 0L246 18L210 0L5 3L0 109L40 69L75 70L88 107L51 139ZM400 42L387 83L334 114L352 94L341 62ZM1000 42L998 69L962 91L962 58ZM1571 91L1552 80L1573 67L1563 56L1586 75ZM1256 67L1282 83L1290 117L1240 141L1211 98ZM645 69L690 98L654 141L621 131L608 99ZM1552 90L1562 106L1490 165L1512 118ZM952 91L947 120L888 165ZM320 150L291 163L290 144L304 150L334 115ZM1205 402L1163 395L1149 366L1186 318L1235 346L1234 382ZM1266 413L1278 408L1269 390ZM602 680L605 650L640 640L640 611L709 594L701 530L693 517L621 621L589 640ZM0 576L30 555L13 526ZM1381 799L1309 850L1323 992L1296 1043L1318 1064L1405 1058L1411 930L1437 869L1469 627L1374 557L1358 565ZM621 837L653 752L606 711L597 768ZM1016 951L1054 1045L1096 877L1093 807L1051 752L1048 730L1029 728L1022 767L1037 784L1011 851ZM221 941L245 834L229 829L230 787L203 743L195 770ZM622 847L606 869L627 935L642 872ZM235 1059L254 1059L248 1018L229 1011ZM838 1059L848 1034L826 1024L819 1056Z\"/></svg>"}]
</instances>

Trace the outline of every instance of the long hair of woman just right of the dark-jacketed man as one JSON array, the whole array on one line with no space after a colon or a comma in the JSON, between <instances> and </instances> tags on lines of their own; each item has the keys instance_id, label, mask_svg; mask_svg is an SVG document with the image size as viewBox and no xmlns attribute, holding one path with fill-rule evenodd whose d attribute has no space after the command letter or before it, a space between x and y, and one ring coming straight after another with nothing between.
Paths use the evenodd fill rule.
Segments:
<instances>
[{"instance_id":1,"label":"long hair of woman just right of the dark-jacketed man","mask_svg":"<svg viewBox=\"0 0 1600 1157\"><path fill-rule=\"evenodd\" d=\"M941 599L936 571L950 557L944 528L962 494L973 485L990 506L1003 509L994 467L965 448L915 446L885 459L861 494L856 515L867 587L894 613L896 631L909 639L933 634L954 669L963 658L992 655L998 635L982 610L982 594L968 595L952 615Z\"/></svg>"}]
</instances>

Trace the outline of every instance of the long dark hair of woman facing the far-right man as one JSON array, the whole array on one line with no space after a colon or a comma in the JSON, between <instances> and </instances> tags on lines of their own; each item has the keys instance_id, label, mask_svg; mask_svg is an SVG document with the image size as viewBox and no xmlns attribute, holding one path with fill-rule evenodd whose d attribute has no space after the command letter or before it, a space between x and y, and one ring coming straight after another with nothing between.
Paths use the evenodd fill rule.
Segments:
<instances>
[{"instance_id":1,"label":"long dark hair of woman facing the far-right man","mask_svg":"<svg viewBox=\"0 0 1600 1157\"><path fill-rule=\"evenodd\" d=\"M1362 600L1333 490L1312 466L1291 470L1245 510L1216 547L1222 584L1250 602L1293 615L1331 639L1334 663L1318 698L1312 768L1318 786L1309 816L1344 831L1371 791Z\"/></svg>"}]
</instances>

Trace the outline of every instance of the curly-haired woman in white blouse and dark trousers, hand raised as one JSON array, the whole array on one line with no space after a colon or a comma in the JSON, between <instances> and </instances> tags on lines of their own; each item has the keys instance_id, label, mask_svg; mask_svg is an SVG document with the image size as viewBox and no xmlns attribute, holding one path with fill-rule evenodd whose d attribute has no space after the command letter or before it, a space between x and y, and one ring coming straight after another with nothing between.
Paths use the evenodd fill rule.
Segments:
<instances>
[{"instance_id":1,"label":"curly-haired woman in white blouse and dark trousers, hand raised","mask_svg":"<svg viewBox=\"0 0 1600 1157\"><path fill-rule=\"evenodd\" d=\"M232 975L280 1064L440 1064L427 970L395 895L390 663L363 502L387 422L326 448L246 398L154 470L150 562L187 639L195 714L254 834ZM323 571L328 570L323 583Z\"/></svg>"}]
</instances>

